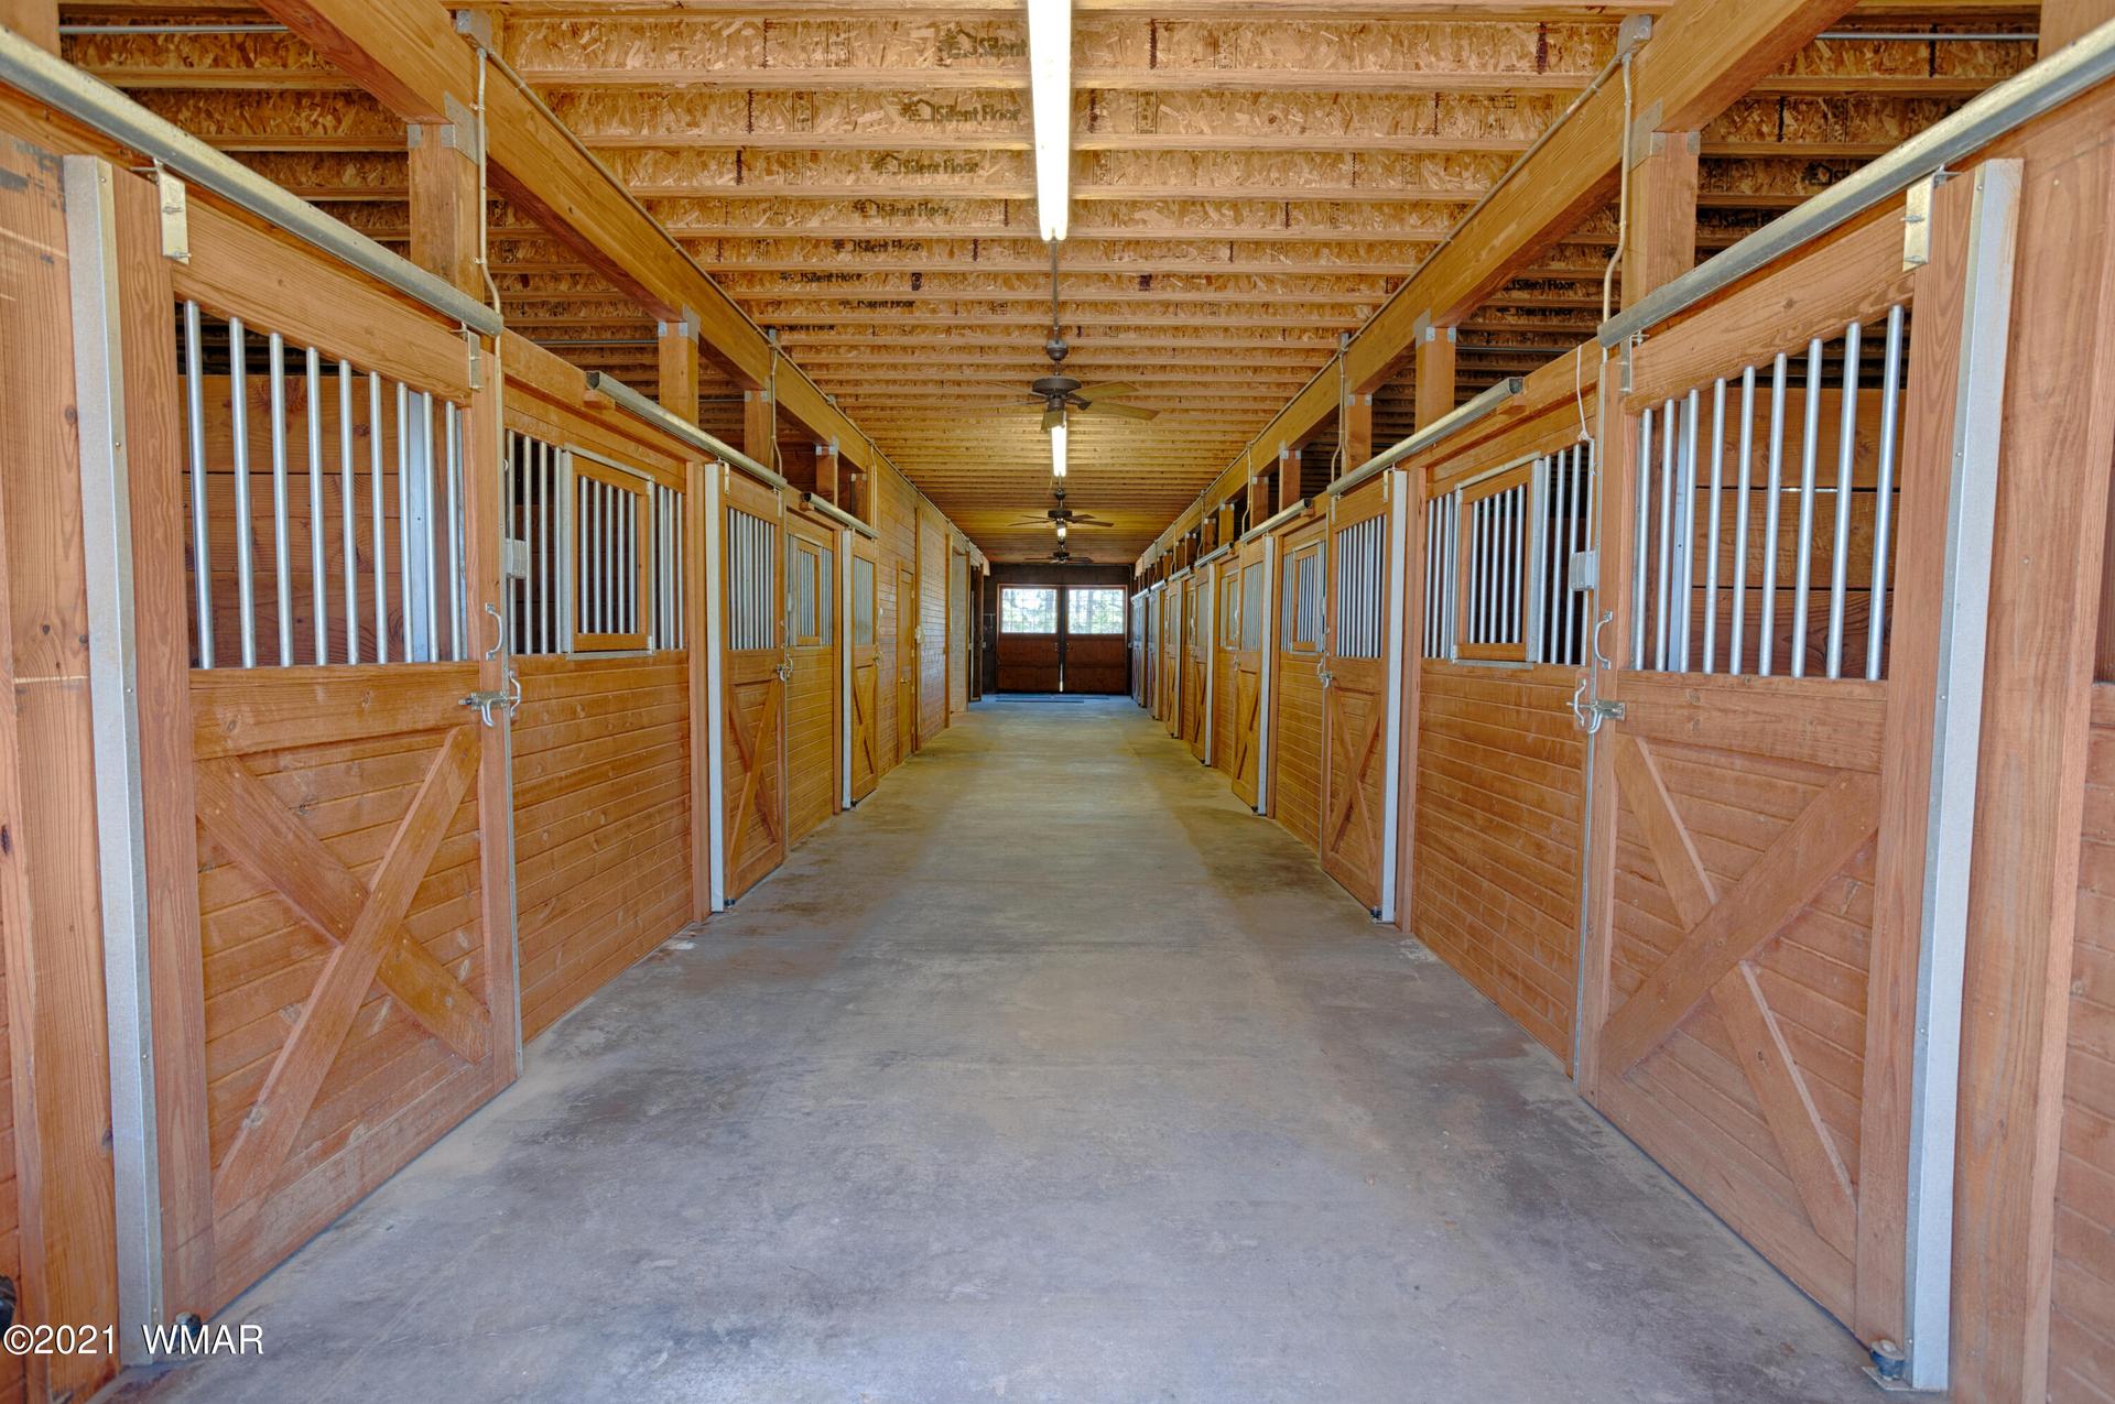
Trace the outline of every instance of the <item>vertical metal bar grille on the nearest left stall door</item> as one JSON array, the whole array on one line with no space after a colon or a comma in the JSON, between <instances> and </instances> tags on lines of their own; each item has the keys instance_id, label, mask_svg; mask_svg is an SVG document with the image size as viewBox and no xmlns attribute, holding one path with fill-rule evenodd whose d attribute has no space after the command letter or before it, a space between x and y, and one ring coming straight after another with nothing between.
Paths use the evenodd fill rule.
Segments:
<instances>
[{"instance_id":1,"label":"vertical metal bar grille on the nearest left stall door","mask_svg":"<svg viewBox=\"0 0 2115 1404\"><path fill-rule=\"evenodd\" d=\"M463 410L197 302L173 319L192 664L465 658Z\"/></svg>"}]
</instances>

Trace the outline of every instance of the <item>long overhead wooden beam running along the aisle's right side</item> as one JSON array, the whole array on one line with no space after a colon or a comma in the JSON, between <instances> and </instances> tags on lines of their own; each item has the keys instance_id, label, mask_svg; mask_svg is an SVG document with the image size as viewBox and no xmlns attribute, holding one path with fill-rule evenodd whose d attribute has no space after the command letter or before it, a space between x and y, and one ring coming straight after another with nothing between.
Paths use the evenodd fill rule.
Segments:
<instances>
[{"instance_id":1,"label":"long overhead wooden beam running along the aisle's right side","mask_svg":"<svg viewBox=\"0 0 2115 1404\"><path fill-rule=\"evenodd\" d=\"M1656 112L1650 131L1703 129L1851 8L1853 0L1677 0L1633 61L1629 114ZM1624 85L1612 80L1351 336L1349 383L1392 378L1421 326L1459 324L1605 205L1629 137ZM1301 440L1335 408L1337 387L1324 376L1294 395L1258 438ZM1222 474L1231 476L1233 469ZM1176 518L1163 539L1187 520L1193 518Z\"/></svg>"}]
</instances>

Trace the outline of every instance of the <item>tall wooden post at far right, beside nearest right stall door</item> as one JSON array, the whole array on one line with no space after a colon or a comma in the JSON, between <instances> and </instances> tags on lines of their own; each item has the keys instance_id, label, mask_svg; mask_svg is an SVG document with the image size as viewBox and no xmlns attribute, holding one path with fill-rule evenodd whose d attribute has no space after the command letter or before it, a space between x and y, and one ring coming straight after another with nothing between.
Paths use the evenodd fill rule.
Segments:
<instances>
[{"instance_id":1,"label":"tall wooden post at far right, beside nearest right stall door","mask_svg":"<svg viewBox=\"0 0 2115 1404\"><path fill-rule=\"evenodd\" d=\"M2107 106L2026 137L1969 869L1954 1184L1958 1400L2047 1398L2064 1038L2115 459ZM2005 150L2003 154L2011 154Z\"/></svg>"}]
</instances>

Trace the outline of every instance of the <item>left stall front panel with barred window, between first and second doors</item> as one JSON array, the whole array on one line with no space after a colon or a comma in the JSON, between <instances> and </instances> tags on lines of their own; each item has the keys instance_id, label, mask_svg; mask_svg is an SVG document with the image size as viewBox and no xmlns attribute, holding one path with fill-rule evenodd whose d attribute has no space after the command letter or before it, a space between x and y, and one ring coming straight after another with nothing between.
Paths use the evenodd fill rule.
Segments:
<instances>
[{"instance_id":1,"label":"left stall front panel with barred window, between first and second doors","mask_svg":"<svg viewBox=\"0 0 2115 1404\"><path fill-rule=\"evenodd\" d=\"M522 1036L533 1038L698 909L696 469L692 450L590 393L584 372L550 351L508 334L501 362L508 535L527 552L508 620L520 679L514 901ZM632 514L622 543L635 556L622 569L596 571L592 548L611 537L582 533L569 512L584 484L624 493L611 497ZM586 577L632 592L622 626L571 617Z\"/></svg>"}]
</instances>

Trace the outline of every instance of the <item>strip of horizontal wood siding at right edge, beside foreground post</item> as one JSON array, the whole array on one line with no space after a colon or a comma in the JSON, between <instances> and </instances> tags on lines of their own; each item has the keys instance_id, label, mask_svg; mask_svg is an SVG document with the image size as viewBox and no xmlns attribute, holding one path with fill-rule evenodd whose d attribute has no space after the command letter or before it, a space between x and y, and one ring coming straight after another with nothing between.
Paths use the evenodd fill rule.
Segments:
<instances>
[{"instance_id":1,"label":"strip of horizontal wood siding at right edge, beside foreground post","mask_svg":"<svg viewBox=\"0 0 2115 1404\"><path fill-rule=\"evenodd\" d=\"M2056 1171L2052 1404L2115 1400L2115 685L2094 687Z\"/></svg>"}]
</instances>

